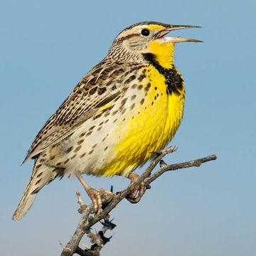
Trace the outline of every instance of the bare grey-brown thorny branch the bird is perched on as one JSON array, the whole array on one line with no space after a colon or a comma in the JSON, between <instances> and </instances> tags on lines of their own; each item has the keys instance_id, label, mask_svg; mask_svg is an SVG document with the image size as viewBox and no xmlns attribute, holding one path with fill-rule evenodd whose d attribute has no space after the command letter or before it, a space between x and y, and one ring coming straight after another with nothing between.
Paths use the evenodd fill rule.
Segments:
<instances>
[{"instance_id":1,"label":"bare grey-brown thorny branch the bird is perched on","mask_svg":"<svg viewBox=\"0 0 256 256\"><path fill-rule=\"evenodd\" d=\"M90 215L92 212L92 204L90 206L85 206L82 203L82 198L80 198L80 195L78 196L78 203L80 204L80 213L82 213L82 217L80 219L80 222L78 223L78 227L75 230L75 233L73 237L70 239L68 244L63 249L61 256L71 256L74 253L78 253L79 255L85 255L85 256L98 256L100 255L100 250L102 249L103 245L105 245L105 242L108 242L110 238L105 238L104 234L108 229L111 228L102 228L102 230L97 233L93 234L90 231L90 228L92 225L95 225L95 223L99 222L100 220L105 220L109 218L110 211L117 206L117 204L122 201L126 196L129 195L134 189L136 189L142 181L145 181L147 188L149 188L149 184L154 181L156 178L164 174L166 171L176 171L178 169L188 168L191 166L201 166L201 164L212 161L217 159L215 155L212 156L206 156L202 159L196 159L192 161L186 161L180 164L171 164L167 165L163 160L161 160L166 154L171 154L172 152L176 151L176 148L168 148L164 149L160 152L154 152L156 154L156 157L153 161L151 161L151 164L149 164L149 167L142 173L142 175L137 178L136 181L129 184L127 188L125 188L123 191L120 191L118 193L115 193L112 201L105 206L105 208L102 210L102 212L99 215ZM161 161L160 161L161 160ZM160 161L160 169L156 171L154 174L151 174L154 167L159 163ZM104 203L104 199L102 198L102 203ZM85 206L85 207L84 207ZM111 222L110 222L111 223ZM112 225L114 225L112 223ZM93 243L90 250L82 250L78 245L80 243L80 240L82 239L83 235L87 234L89 238L91 238L91 242Z\"/></svg>"}]
</instances>

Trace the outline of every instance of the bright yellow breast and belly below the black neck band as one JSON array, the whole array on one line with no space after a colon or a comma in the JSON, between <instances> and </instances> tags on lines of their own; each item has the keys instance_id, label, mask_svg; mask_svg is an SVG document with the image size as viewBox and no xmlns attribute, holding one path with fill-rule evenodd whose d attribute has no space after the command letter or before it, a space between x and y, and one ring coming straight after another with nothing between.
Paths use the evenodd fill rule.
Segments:
<instances>
[{"instance_id":1,"label":"bright yellow breast and belly below the black neck band","mask_svg":"<svg viewBox=\"0 0 256 256\"><path fill-rule=\"evenodd\" d=\"M142 68L141 74L142 80L131 88L137 92L134 104L114 127L119 142L114 146L114 159L100 171L104 176L129 175L164 148L181 124L184 86L179 94L168 92L166 78L153 65Z\"/></svg>"}]
</instances>

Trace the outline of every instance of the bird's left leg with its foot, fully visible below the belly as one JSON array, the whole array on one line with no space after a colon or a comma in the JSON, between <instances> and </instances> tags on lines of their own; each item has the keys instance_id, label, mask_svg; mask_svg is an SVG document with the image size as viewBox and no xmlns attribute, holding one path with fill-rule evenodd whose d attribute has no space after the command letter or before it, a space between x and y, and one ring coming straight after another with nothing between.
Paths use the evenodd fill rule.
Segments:
<instances>
[{"instance_id":1,"label":"bird's left leg with its foot, fully visible below the belly","mask_svg":"<svg viewBox=\"0 0 256 256\"><path fill-rule=\"evenodd\" d=\"M81 174L75 174L75 175L77 176L80 183L82 183L82 186L85 188L87 195L90 196L95 214L99 214L100 210L102 208L101 196L104 196L106 198L106 201L104 203L107 203L112 200L113 193L111 193L110 191L106 191L105 189L102 189L102 188L100 188L100 189L91 188L87 184L85 179L82 178Z\"/></svg>"}]
</instances>

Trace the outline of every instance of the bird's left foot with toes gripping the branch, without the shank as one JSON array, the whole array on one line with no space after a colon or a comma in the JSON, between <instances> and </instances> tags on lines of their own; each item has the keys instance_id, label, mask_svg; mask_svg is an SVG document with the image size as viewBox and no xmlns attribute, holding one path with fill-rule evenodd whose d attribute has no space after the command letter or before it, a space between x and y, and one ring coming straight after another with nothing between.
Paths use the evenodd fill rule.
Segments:
<instances>
[{"instance_id":1,"label":"bird's left foot with toes gripping the branch, without the shank","mask_svg":"<svg viewBox=\"0 0 256 256\"><path fill-rule=\"evenodd\" d=\"M102 203L109 203L110 201L112 201L113 198L113 193L103 188L89 188L86 190L86 192L92 200L93 211L95 214L100 214L100 210L102 209Z\"/></svg>"}]
</instances>

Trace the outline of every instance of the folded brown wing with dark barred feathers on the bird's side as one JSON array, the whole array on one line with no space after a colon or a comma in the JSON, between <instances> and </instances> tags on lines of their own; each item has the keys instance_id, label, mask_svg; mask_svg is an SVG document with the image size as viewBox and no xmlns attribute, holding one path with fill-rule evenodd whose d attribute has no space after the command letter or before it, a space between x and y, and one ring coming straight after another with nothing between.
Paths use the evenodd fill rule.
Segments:
<instances>
[{"instance_id":1,"label":"folded brown wing with dark barred feathers on the bird's side","mask_svg":"<svg viewBox=\"0 0 256 256\"><path fill-rule=\"evenodd\" d=\"M68 137L102 107L121 95L124 85L119 81L126 69L110 64L111 68L107 64L104 66L103 62L99 63L103 65L101 68L97 65L85 75L38 132L24 162Z\"/></svg>"}]
</instances>

